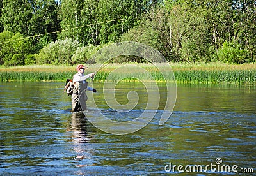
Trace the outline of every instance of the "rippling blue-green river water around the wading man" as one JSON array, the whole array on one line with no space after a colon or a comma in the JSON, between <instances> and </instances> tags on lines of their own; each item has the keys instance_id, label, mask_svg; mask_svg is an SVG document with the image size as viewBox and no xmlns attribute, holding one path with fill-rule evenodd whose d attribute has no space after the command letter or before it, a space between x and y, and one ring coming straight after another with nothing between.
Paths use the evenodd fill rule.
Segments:
<instances>
[{"instance_id":1,"label":"rippling blue-green river water around the wading man","mask_svg":"<svg viewBox=\"0 0 256 176\"><path fill-rule=\"evenodd\" d=\"M138 106L125 114L111 110L99 85L100 110L120 121L138 117L147 90L140 83L118 86L116 99L127 103L127 92L136 91ZM159 90L163 103L166 87ZM159 126L160 105L145 128L128 135L105 133L83 113L71 113L61 82L1 82L0 99L0 175L255 173L255 86L177 84L170 119ZM88 112L90 101L88 95Z\"/></svg>"}]
</instances>

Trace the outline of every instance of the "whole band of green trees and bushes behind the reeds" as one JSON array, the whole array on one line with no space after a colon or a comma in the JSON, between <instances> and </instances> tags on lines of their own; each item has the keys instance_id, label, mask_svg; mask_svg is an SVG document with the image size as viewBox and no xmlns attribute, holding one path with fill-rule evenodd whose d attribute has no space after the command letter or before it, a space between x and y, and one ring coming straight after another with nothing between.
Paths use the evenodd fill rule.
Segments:
<instances>
[{"instance_id":1,"label":"whole band of green trees and bushes behind the reeds","mask_svg":"<svg viewBox=\"0 0 256 176\"><path fill-rule=\"evenodd\" d=\"M76 64L121 41L168 62L255 62L254 0L0 0L0 9L1 65ZM144 60L115 59L124 61Z\"/></svg>"}]
</instances>

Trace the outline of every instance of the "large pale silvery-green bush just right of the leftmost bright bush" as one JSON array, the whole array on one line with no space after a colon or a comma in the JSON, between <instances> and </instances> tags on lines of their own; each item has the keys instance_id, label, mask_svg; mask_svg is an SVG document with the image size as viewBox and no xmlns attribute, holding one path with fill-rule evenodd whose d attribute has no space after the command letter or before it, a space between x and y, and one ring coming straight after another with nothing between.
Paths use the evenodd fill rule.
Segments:
<instances>
[{"instance_id":1,"label":"large pale silvery-green bush just right of the leftmost bright bush","mask_svg":"<svg viewBox=\"0 0 256 176\"><path fill-rule=\"evenodd\" d=\"M77 40L70 38L57 40L42 48L39 54L35 55L38 64L72 64L72 55L80 47Z\"/></svg>"}]
</instances>

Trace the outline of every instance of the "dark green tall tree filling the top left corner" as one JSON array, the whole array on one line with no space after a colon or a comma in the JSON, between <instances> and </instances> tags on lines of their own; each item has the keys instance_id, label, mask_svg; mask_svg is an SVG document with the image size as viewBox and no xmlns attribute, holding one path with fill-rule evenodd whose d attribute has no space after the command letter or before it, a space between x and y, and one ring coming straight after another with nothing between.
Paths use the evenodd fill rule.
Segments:
<instances>
[{"instance_id":1,"label":"dark green tall tree filling the top left corner","mask_svg":"<svg viewBox=\"0 0 256 176\"><path fill-rule=\"evenodd\" d=\"M33 37L33 45L37 45L40 36L58 31L58 5L54 0L3 0L1 22L5 31L21 33ZM49 41L56 40L56 34L48 35ZM35 51L36 52L36 51Z\"/></svg>"}]
</instances>

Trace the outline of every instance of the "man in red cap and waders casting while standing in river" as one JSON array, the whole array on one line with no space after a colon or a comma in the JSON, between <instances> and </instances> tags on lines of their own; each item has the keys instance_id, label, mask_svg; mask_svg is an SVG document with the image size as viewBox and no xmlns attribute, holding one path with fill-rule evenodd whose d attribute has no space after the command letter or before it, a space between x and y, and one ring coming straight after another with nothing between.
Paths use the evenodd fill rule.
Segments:
<instances>
[{"instance_id":1,"label":"man in red cap and waders casting while standing in river","mask_svg":"<svg viewBox=\"0 0 256 176\"><path fill-rule=\"evenodd\" d=\"M73 87L73 94L71 96L72 111L74 112L84 111L87 109L86 101L88 98L86 95L86 90L97 92L96 89L89 87L88 82L86 82L86 79L94 78L95 73L84 75L85 67L83 66L83 64L78 64L76 66L76 70L77 70L77 73L76 75L73 76L73 80L72 80L74 87Z\"/></svg>"}]
</instances>

